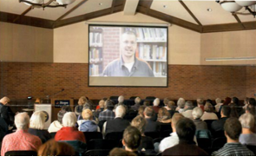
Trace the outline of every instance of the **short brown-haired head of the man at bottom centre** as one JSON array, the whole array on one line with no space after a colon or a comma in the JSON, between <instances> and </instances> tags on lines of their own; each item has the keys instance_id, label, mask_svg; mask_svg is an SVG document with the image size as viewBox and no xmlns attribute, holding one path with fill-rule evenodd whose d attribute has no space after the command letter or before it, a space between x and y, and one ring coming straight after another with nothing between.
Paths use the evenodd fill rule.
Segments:
<instances>
[{"instance_id":1,"label":"short brown-haired head of the man at bottom centre","mask_svg":"<svg viewBox=\"0 0 256 157\"><path fill-rule=\"evenodd\" d=\"M123 133L123 141L126 147L138 149L141 145L141 132L137 128L129 126Z\"/></svg>"}]
</instances>

